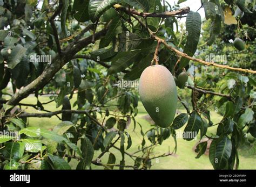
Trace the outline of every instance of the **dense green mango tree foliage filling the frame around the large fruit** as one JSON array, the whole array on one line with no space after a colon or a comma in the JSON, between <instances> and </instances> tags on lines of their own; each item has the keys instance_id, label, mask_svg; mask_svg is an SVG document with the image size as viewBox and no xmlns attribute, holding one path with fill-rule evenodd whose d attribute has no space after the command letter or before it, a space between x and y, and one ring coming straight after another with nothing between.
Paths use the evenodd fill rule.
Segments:
<instances>
[{"instance_id":1,"label":"dense green mango tree foliage filling the frame around the large fruit","mask_svg":"<svg viewBox=\"0 0 256 187\"><path fill-rule=\"evenodd\" d=\"M175 153L178 145L173 152L157 156L152 148L169 138L176 142L177 130L185 126L185 134L196 132L184 136L185 140L199 137L199 132L200 139L212 140L209 159L214 169L238 169L239 146L251 145L247 135L256 138L255 77L225 66L194 63L184 53L205 61L210 54L227 55L224 65L255 69L255 28L250 20L255 17L255 5L254 1L201 2L206 20L197 12L180 9L179 4L163 6L160 0L44 0L42 7L37 1L0 1L0 125L2 132L18 132L18 136L0 136L0 168L71 169L69 163L76 160L77 169L90 169L91 164L104 169L150 169L152 159ZM127 9L130 6L132 11ZM238 25L224 24L225 6L236 12ZM178 24L182 15L186 29ZM244 39L244 51L230 43L236 37ZM157 38L166 45L159 46ZM174 49L184 53L177 55ZM187 113L177 115L167 128L152 125L144 132L145 124L134 118L138 92L120 81L134 83L129 81L140 77L154 54L173 76L183 71L189 74L185 88L177 88ZM47 103L39 101L45 94L62 110L45 110ZM9 100L6 95L11 96ZM22 103L25 97L36 97L37 104ZM76 102L71 106L72 98ZM26 113L18 106L38 112ZM211 121L212 110L223 114L218 124ZM58 115L63 122L51 130L29 124L30 117ZM139 156L129 153L132 137L126 129L131 124L141 130ZM217 132L208 133L214 126ZM198 145L197 159L206 146ZM120 151L120 163L110 148ZM108 162L102 163L107 152ZM125 164L127 156L134 166Z\"/></svg>"}]
</instances>

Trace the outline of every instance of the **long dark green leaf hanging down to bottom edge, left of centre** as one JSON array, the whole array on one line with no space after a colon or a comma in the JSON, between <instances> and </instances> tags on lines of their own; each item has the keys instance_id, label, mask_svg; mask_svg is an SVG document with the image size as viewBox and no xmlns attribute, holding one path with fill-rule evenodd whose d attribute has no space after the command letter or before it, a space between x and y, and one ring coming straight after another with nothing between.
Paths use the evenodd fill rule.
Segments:
<instances>
[{"instance_id":1,"label":"long dark green leaf hanging down to bottom edge, left of centre","mask_svg":"<svg viewBox=\"0 0 256 187\"><path fill-rule=\"evenodd\" d=\"M86 136L81 140L81 149L83 160L78 163L77 169L90 169L94 149L91 141Z\"/></svg>"}]
</instances>

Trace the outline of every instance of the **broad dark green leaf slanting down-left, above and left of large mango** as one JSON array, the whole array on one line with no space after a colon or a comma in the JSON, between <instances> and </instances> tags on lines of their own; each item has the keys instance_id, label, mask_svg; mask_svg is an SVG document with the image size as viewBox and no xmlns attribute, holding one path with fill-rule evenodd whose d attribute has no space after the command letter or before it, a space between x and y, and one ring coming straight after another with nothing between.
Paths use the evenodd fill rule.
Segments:
<instances>
[{"instance_id":1,"label":"broad dark green leaf slanting down-left, above and left of large mango","mask_svg":"<svg viewBox=\"0 0 256 187\"><path fill-rule=\"evenodd\" d=\"M111 67L107 73L114 74L126 69L137 59L139 54L139 51L119 52L117 55L121 57L112 61Z\"/></svg>"}]
</instances>

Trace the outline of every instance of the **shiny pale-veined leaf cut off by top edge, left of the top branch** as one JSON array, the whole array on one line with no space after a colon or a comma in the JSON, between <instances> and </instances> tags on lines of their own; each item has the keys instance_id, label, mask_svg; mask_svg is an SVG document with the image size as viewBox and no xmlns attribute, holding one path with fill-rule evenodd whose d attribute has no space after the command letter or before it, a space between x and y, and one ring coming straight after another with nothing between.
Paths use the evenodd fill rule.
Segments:
<instances>
[{"instance_id":1,"label":"shiny pale-veined leaf cut off by top edge, left of the top branch","mask_svg":"<svg viewBox=\"0 0 256 187\"><path fill-rule=\"evenodd\" d=\"M89 16L93 23L95 23L103 13L110 9L111 6L117 4L119 0L97 0L89 3Z\"/></svg>"}]
</instances>

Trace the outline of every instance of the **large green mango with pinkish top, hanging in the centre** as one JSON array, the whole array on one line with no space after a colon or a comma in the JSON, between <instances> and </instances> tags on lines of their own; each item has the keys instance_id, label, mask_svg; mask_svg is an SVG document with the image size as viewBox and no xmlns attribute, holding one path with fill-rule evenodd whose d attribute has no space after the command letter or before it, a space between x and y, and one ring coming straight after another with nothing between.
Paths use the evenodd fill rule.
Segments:
<instances>
[{"instance_id":1,"label":"large green mango with pinkish top, hanging in the centre","mask_svg":"<svg viewBox=\"0 0 256 187\"><path fill-rule=\"evenodd\" d=\"M147 67L140 76L139 95L156 125L171 125L178 99L174 78L167 68L158 64Z\"/></svg>"}]
</instances>

